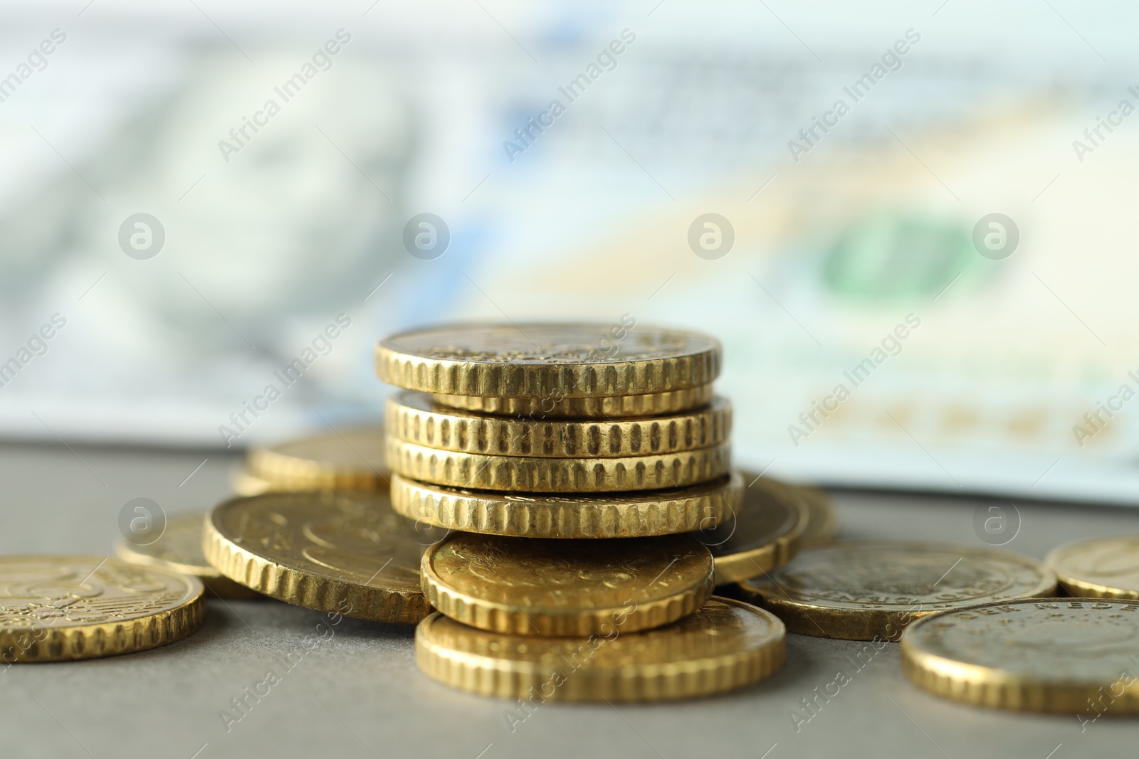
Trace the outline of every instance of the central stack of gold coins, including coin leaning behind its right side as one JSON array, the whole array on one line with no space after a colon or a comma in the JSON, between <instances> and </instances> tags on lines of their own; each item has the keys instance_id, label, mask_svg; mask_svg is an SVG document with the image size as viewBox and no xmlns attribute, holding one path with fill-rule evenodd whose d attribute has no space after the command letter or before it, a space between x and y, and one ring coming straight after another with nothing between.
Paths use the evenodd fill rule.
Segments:
<instances>
[{"instance_id":1,"label":"central stack of gold coins, including coin leaning behind its right side","mask_svg":"<svg viewBox=\"0 0 1139 759\"><path fill-rule=\"evenodd\" d=\"M380 341L377 373L404 389L386 412L392 505L454 530L420 564L425 673L523 700L658 700L782 663L773 614L712 595L786 562L805 527L792 490L731 471L721 354L628 323Z\"/></svg>"}]
</instances>

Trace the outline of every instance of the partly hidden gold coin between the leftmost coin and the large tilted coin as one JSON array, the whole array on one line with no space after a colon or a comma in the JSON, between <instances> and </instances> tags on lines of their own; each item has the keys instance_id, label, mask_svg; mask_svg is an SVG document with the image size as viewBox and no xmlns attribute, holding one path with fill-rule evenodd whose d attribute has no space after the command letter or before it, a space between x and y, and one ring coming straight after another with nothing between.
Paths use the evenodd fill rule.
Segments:
<instances>
[{"instance_id":1,"label":"partly hidden gold coin between the leftmost coin and the large tilted coin","mask_svg":"<svg viewBox=\"0 0 1139 759\"><path fill-rule=\"evenodd\" d=\"M206 594L218 599L263 599L260 593L222 577L210 566L202 553L202 528L205 521L204 513L171 517L166 520L162 537L154 543L134 545L120 541L115 553L132 564L197 577L206 586Z\"/></svg>"}]
</instances>

